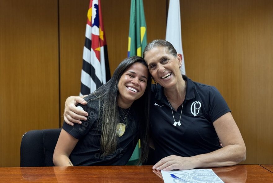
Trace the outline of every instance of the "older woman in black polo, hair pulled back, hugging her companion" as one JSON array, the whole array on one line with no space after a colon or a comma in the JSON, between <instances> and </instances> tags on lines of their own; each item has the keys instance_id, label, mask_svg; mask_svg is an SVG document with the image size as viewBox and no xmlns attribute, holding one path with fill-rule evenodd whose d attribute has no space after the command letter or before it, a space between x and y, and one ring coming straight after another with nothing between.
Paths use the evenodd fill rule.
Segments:
<instances>
[{"instance_id":1,"label":"older woman in black polo, hair pulled back, hugging her companion","mask_svg":"<svg viewBox=\"0 0 273 183\"><path fill-rule=\"evenodd\" d=\"M153 169L231 166L245 160L244 140L219 91L182 75L181 57L166 40L150 42L143 57L157 83L151 87L150 105ZM77 102L84 104L80 97L65 103L70 125L86 115L73 107Z\"/></svg>"}]
</instances>

